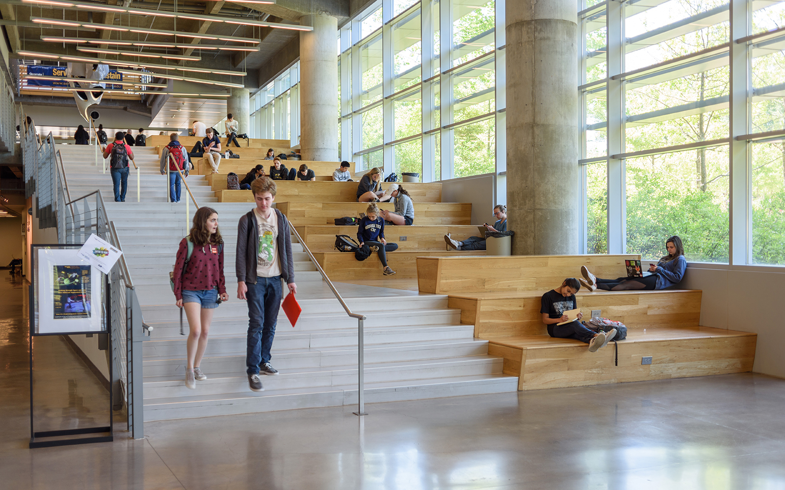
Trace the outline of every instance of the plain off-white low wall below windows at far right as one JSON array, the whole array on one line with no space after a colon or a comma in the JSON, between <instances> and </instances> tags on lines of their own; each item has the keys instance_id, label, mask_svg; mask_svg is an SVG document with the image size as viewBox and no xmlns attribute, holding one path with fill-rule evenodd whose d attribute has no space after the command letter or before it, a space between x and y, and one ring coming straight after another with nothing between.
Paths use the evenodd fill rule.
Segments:
<instances>
[{"instance_id":1,"label":"plain off-white low wall below windows at far right","mask_svg":"<svg viewBox=\"0 0 785 490\"><path fill-rule=\"evenodd\" d=\"M681 287L703 290L700 325L758 334L754 372L785 378L785 268L689 263Z\"/></svg>"}]
</instances>

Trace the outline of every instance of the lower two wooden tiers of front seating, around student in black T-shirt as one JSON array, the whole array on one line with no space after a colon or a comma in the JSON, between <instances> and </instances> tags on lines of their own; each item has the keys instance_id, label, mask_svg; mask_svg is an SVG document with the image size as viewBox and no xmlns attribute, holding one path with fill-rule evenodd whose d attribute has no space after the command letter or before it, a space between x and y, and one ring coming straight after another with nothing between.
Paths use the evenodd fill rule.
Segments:
<instances>
[{"instance_id":1,"label":"lower two wooden tiers of front seating, around student in black T-shirt","mask_svg":"<svg viewBox=\"0 0 785 490\"><path fill-rule=\"evenodd\" d=\"M579 292L591 310L622 321L627 338L590 353L586 343L547 334L540 313L545 291L481 292L450 296L461 322L487 339L488 354L504 358L504 372L518 376L519 390L707 376L752 369L757 336L698 325L700 291ZM652 365L641 365L652 356Z\"/></svg>"}]
</instances>

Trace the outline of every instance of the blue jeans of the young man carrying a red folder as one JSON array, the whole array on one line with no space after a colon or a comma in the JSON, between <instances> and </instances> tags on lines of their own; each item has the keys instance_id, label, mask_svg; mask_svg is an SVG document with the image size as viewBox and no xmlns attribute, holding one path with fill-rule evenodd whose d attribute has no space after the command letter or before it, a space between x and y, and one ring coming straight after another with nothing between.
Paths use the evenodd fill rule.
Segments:
<instances>
[{"instance_id":1,"label":"blue jeans of the young man carrying a red folder","mask_svg":"<svg viewBox=\"0 0 785 490\"><path fill-rule=\"evenodd\" d=\"M256 284L246 282L248 292L248 348L246 372L259 374L259 365L270 361L272 339L276 336L278 310L281 307L281 276L256 278Z\"/></svg>"}]
</instances>

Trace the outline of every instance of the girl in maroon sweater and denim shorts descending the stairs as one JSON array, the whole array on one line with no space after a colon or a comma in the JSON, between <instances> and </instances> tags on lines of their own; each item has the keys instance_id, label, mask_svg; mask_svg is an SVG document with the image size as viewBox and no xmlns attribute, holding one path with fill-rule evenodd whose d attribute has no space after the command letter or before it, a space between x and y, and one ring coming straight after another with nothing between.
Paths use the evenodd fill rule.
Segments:
<instances>
[{"instance_id":1,"label":"girl in maroon sweater and denim shorts descending the stairs","mask_svg":"<svg viewBox=\"0 0 785 490\"><path fill-rule=\"evenodd\" d=\"M188 239L194 244L191 260L186 265ZM199 368L207 347L207 333L213 320L213 309L218 296L226 301L224 278L224 240L218 231L218 213L212 208L199 208L194 215L191 234L180 242L177 262L174 263L174 297L177 307L185 308L188 317L188 365L185 367L185 386L196 387L195 379L207 379ZM183 270L185 267L185 270Z\"/></svg>"}]
</instances>

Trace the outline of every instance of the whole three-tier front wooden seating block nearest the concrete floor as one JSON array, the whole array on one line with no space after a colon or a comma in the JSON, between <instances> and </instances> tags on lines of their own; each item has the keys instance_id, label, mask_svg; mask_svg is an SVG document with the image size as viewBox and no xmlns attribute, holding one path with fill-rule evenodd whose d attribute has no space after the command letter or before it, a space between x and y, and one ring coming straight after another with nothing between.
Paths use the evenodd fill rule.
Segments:
<instances>
[{"instance_id":1,"label":"whole three-tier front wooden seating block nearest the concrete floor","mask_svg":"<svg viewBox=\"0 0 785 490\"><path fill-rule=\"evenodd\" d=\"M700 291L582 290L577 296L584 316L601 310L602 317L627 326L627 338L590 353L578 340L550 337L540 313L542 294L579 276L583 264L601 277L626 275L627 257L634 256L418 257L418 283L421 292L449 294L449 307L461 309L461 322L488 340L488 354L504 358L504 372L519 377L519 390L752 369L757 335L699 326ZM644 356L652 365L641 364Z\"/></svg>"}]
</instances>

